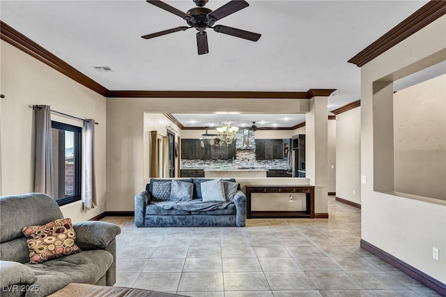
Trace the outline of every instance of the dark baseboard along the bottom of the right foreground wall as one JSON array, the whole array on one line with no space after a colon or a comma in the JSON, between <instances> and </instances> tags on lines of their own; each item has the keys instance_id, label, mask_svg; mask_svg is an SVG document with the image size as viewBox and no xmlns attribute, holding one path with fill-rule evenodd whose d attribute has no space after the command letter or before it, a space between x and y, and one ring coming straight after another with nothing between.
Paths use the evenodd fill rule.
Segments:
<instances>
[{"instance_id":1,"label":"dark baseboard along the bottom of the right foreground wall","mask_svg":"<svg viewBox=\"0 0 446 297\"><path fill-rule=\"evenodd\" d=\"M436 291L438 294L440 294L440 296L446 296L446 284L443 284L443 282L440 282L433 277L426 275L426 273L418 270L413 266L410 266L397 257L392 256L392 254L389 254L388 252L377 248L375 245L364 241L364 239L361 239L360 246L364 250L367 250L367 252L371 252L371 254L374 254L376 257L398 268L400 271L406 273L410 277L413 277L415 280L424 284L424 286L428 287L429 289Z\"/></svg>"}]
</instances>

